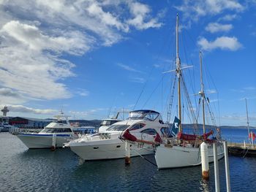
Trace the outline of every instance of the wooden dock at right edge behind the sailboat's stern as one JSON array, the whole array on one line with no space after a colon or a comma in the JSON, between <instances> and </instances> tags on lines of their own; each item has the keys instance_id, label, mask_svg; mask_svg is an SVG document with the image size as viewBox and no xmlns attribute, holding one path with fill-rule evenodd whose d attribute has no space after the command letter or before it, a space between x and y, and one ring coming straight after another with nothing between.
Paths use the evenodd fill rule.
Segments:
<instances>
[{"instance_id":1,"label":"wooden dock at right edge behind the sailboat's stern","mask_svg":"<svg viewBox=\"0 0 256 192\"><path fill-rule=\"evenodd\" d=\"M228 142L227 143L228 153L237 156L255 156L256 157L256 147L252 147L250 143L237 143Z\"/></svg>"}]
</instances>

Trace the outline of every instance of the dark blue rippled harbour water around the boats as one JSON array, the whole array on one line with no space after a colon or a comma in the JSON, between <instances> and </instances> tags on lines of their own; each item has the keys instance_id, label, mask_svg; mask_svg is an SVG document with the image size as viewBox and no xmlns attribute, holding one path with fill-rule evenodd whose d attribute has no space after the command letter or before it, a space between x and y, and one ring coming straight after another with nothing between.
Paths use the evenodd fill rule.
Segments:
<instances>
[{"instance_id":1,"label":"dark blue rippled harbour water around the boats","mask_svg":"<svg viewBox=\"0 0 256 192\"><path fill-rule=\"evenodd\" d=\"M69 149L28 150L7 133L0 134L0 144L0 191L214 191L214 164L210 180L203 182L200 166L157 170L140 157L129 166L124 159L83 163ZM153 155L146 158L154 161ZM229 161L231 191L256 191L256 158L230 156ZM223 159L219 173L225 191Z\"/></svg>"}]
</instances>

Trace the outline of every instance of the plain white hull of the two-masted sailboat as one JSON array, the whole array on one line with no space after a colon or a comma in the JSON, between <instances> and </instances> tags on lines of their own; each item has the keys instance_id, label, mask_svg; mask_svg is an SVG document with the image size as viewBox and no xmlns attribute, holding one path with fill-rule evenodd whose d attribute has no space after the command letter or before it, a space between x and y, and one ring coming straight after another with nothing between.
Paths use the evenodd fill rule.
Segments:
<instances>
[{"instance_id":1,"label":"plain white hull of the two-masted sailboat","mask_svg":"<svg viewBox=\"0 0 256 192\"><path fill-rule=\"evenodd\" d=\"M217 151L218 159L223 158L224 148L222 144L217 146ZM165 147L165 145L159 145L156 149L155 159L158 169L197 166L201 164L200 148L176 145ZM208 160L209 163L214 161L214 150L212 145L208 146Z\"/></svg>"}]
</instances>

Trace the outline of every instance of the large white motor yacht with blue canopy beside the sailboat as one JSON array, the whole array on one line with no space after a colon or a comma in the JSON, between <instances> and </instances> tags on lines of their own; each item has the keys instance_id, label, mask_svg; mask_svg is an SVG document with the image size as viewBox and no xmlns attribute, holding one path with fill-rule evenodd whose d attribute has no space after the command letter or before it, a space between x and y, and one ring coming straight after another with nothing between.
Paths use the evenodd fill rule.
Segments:
<instances>
[{"instance_id":1,"label":"large white motor yacht with blue canopy beside the sailboat","mask_svg":"<svg viewBox=\"0 0 256 192\"><path fill-rule=\"evenodd\" d=\"M161 129L166 128L159 112L153 110L136 110L129 112L127 120L119 121L106 131L79 139L73 139L65 144L84 160L99 160L125 157L125 143L120 136L124 130L143 141L154 142ZM154 153L154 147L143 143L130 144L131 156L148 155Z\"/></svg>"}]
</instances>

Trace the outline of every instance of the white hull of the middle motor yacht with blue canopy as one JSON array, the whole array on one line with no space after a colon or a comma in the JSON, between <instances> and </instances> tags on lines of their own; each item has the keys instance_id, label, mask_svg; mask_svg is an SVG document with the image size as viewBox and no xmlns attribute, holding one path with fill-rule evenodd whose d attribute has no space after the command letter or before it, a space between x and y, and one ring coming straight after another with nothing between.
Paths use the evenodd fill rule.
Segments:
<instances>
[{"instance_id":1,"label":"white hull of the middle motor yacht with blue canopy","mask_svg":"<svg viewBox=\"0 0 256 192\"><path fill-rule=\"evenodd\" d=\"M130 144L132 145L132 144ZM70 149L83 158L83 160L100 160L125 158L125 143L120 139L108 139L105 142L80 142L69 144ZM138 155L154 154L154 148L150 145L132 145L131 157Z\"/></svg>"}]
</instances>

